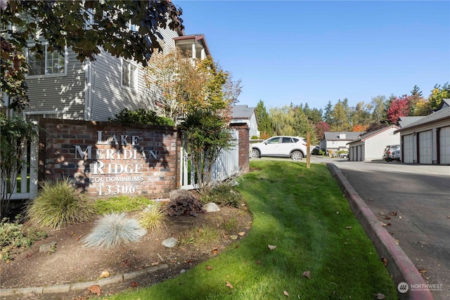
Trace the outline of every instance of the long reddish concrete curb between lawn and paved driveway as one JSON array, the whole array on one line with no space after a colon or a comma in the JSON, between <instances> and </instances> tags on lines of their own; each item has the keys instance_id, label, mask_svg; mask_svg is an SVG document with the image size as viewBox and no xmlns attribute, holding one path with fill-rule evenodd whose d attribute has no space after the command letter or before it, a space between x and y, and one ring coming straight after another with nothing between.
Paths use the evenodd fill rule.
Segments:
<instances>
[{"instance_id":1,"label":"long reddish concrete curb between lawn and paved driveway","mask_svg":"<svg viewBox=\"0 0 450 300\"><path fill-rule=\"evenodd\" d=\"M418 289L407 289L406 292L399 291L399 299L408 300L432 300L432 294L427 289L427 284L418 273L416 266L394 241L390 233L381 226L375 214L359 197L352 185L347 181L342 171L333 163L327 163L328 170L338 180L338 184L345 193L349 206L356 219L366 230L366 234L372 240L380 257L387 259L387 270L389 270L395 285L406 282L407 285L420 287ZM425 287L425 288L424 288Z\"/></svg>"}]
</instances>

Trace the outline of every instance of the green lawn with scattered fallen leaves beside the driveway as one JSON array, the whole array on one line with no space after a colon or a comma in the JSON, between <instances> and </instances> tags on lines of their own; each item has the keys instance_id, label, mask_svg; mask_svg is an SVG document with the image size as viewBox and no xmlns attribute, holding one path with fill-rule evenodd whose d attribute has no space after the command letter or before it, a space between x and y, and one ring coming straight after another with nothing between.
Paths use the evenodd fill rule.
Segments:
<instances>
[{"instance_id":1,"label":"green lawn with scattered fallen leaves beside the driveway","mask_svg":"<svg viewBox=\"0 0 450 300\"><path fill-rule=\"evenodd\" d=\"M250 167L238 187L253 216L245 239L172 280L107 299L397 299L325 165L257 159Z\"/></svg>"}]
</instances>

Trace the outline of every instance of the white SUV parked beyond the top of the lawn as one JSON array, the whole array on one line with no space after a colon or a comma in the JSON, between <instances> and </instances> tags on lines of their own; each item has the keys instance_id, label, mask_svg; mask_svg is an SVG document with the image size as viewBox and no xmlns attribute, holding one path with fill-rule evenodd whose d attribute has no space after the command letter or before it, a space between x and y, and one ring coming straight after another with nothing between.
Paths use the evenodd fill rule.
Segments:
<instances>
[{"instance_id":1,"label":"white SUV parked beyond the top of the lawn","mask_svg":"<svg viewBox=\"0 0 450 300\"><path fill-rule=\"evenodd\" d=\"M307 154L307 140L298 136L274 136L252 144L252 158L262 156L290 157L301 160Z\"/></svg>"}]
</instances>

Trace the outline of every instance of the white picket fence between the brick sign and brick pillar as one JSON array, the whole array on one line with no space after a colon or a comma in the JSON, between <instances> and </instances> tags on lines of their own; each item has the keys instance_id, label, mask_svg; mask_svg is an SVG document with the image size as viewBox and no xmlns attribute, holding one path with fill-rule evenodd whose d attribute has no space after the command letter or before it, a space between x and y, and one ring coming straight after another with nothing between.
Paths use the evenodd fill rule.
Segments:
<instances>
[{"instance_id":1,"label":"white picket fence between the brick sign and brick pillar","mask_svg":"<svg viewBox=\"0 0 450 300\"><path fill-rule=\"evenodd\" d=\"M229 149L222 149L217 157L214 166L212 167L212 180L213 181L224 181L239 171L239 145L238 145L238 131L233 130L232 132L235 145ZM191 164L191 159L188 157L186 152L186 145L183 143L181 147L181 188L186 190L193 190L198 188L198 182L195 182L195 170L193 164Z\"/></svg>"}]
</instances>

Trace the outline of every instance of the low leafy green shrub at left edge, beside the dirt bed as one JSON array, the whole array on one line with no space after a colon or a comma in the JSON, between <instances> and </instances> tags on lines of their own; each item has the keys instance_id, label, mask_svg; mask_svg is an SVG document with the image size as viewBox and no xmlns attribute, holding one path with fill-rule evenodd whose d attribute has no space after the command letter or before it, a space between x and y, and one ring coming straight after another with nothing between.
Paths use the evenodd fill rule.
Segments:
<instances>
[{"instance_id":1,"label":"low leafy green shrub at left edge, beside the dirt bed","mask_svg":"<svg viewBox=\"0 0 450 300\"><path fill-rule=\"evenodd\" d=\"M11 259L13 252L20 252L46 236L46 232L26 228L23 224L10 223L3 219L0 224L0 259L3 261Z\"/></svg>"}]
</instances>

